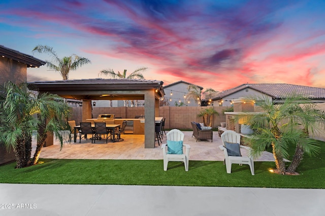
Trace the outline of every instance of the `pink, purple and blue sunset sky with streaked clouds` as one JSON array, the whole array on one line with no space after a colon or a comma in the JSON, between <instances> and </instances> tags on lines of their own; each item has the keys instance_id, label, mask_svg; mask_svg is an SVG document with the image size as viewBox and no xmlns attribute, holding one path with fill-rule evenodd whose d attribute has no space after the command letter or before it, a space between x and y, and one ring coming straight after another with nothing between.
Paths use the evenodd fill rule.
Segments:
<instances>
[{"instance_id":1,"label":"pink, purple and blue sunset sky with streaked clouds","mask_svg":"<svg viewBox=\"0 0 325 216\"><path fill-rule=\"evenodd\" d=\"M242 83L325 88L325 1L2 0L0 45L32 55L37 45L92 64L69 79L103 69L164 85L184 80L222 91ZM50 60L46 54L36 58ZM60 80L46 66L29 81Z\"/></svg>"}]
</instances>

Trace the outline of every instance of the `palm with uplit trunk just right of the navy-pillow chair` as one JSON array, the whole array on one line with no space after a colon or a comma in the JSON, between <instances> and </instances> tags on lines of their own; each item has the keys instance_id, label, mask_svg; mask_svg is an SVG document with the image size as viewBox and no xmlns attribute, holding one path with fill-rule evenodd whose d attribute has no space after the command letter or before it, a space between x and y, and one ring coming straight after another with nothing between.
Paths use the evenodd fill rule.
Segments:
<instances>
[{"instance_id":1,"label":"palm with uplit trunk just right of the navy-pillow chair","mask_svg":"<svg viewBox=\"0 0 325 216\"><path fill-rule=\"evenodd\" d=\"M249 98L248 100L263 101L261 113L250 116L246 124L250 125L254 133L245 139L252 151L253 156L260 156L269 146L272 147L277 172L286 174L285 162L288 159L288 149L296 145L303 149L308 155L319 152L317 142L306 136L306 133L299 127L299 121L306 113L300 109L300 105L307 103L306 99L298 94L287 95L281 104L276 104L269 98ZM311 121L309 121L311 122Z\"/></svg>"}]
</instances>

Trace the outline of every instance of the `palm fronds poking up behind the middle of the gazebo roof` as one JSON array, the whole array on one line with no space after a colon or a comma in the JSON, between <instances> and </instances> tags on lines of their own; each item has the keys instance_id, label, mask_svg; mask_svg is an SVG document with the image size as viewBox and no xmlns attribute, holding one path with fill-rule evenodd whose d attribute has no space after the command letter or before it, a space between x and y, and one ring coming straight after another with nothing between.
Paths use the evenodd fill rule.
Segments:
<instances>
[{"instance_id":1,"label":"palm fronds poking up behind the middle of the gazebo roof","mask_svg":"<svg viewBox=\"0 0 325 216\"><path fill-rule=\"evenodd\" d=\"M136 69L135 71L133 71L131 74L126 76L126 70L124 69L123 73L120 73L119 71L117 71L117 73L114 72L113 69L104 69L101 70L100 74L104 74L105 76L110 76L112 78L119 78L119 79L134 79L134 78L138 78L138 79L144 79L144 76L142 75L141 71L146 71L148 69L148 67L141 67ZM112 101L110 102L112 103ZM135 103L137 106L137 102ZM124 100L124 107L128 106L128 101ZM131 106L134 106L134 101L131 101Z\"/></svg>"}]
</instances>

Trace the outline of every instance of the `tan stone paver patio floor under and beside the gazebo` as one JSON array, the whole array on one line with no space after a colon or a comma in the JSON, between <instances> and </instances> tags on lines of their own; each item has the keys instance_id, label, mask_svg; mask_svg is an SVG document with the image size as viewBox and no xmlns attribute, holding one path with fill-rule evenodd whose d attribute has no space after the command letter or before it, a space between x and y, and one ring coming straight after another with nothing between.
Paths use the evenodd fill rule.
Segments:
<instances>
[{"instance_id":1,"label":"tan stone paver patio floor under and beside the gazebo","mask_svg":"<svg viewBox=\"0 0 325 216\"><path fill-rule=\"evenodd\" d=\"M213 132L213 142L211 140L196 142L196 138L191 137L191 131L183 133L185 135L184 143L191 146L189 160L222 161L224 159L223 152L219 149L222 142L218 132ZM107 144L106 139L96 140L96 143L91 143L90 139L87 141L82 139L79 144L78 138L77 143L65 143L61 151L58 142L54 142L54 145L42 149L40 157L55 159L163 159L163 150L157 142L155 148L144 148L144 135L125 134L121 137L124 141ZM166 135L164 135L163 143L166 143ZM245 149L241 149L241 151L243 155L246 154ZM272 153L264 152L254 161L274 161L274 158Z\"/></svg>"}]
</instances>

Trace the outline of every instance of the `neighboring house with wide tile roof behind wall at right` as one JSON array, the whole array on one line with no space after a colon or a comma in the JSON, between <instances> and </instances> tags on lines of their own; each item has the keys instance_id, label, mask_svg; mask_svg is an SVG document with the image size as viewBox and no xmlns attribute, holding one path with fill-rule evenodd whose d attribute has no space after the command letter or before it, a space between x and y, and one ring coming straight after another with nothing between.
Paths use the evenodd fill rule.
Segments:
<instances>
[{"instance_id":1,"label":"neighboring house with wide tile roof behind wall at right","mask_svg":"<svg viewBox=\"0 0 325 216\"><path fill-rule=\"evenodd\" d=\"M294 85L285 83L258 83L258 84L241 84L229 90L225 90L216 94L210 105L213 106L233 106L233 100L238 98L257 97L269 98L275 102L280 102L281 98L289 93L301 93L310 98L314 103L325 102L325 89L306 87L304 85ZM207 106L208 101L203 101L202 105ZM258 101L256 101L258 105Z\"/></svg>"}]
</instances>

